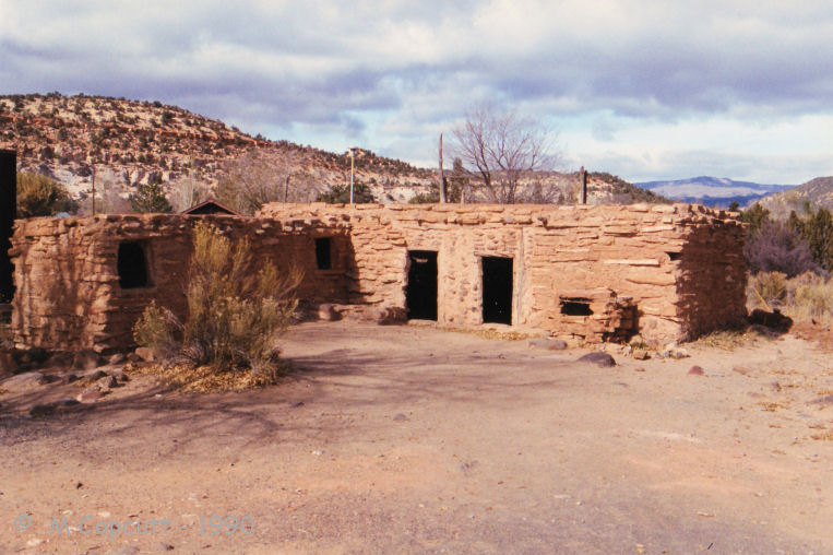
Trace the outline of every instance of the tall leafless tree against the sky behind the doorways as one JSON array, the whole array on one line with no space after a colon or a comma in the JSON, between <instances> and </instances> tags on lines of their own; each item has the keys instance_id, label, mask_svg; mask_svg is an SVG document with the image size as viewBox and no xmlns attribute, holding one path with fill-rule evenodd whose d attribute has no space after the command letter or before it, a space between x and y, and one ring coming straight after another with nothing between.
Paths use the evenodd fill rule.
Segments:
<instances>
[{"instance_id":1,"label":"tall leafless tree against the sky behind the doorways","mask_svg":"<svg viewBox=\"0 0 833 555\"><path fill-rule=\"evenodd\" d=\"M486 104L466 114L454 138L456 154L478 177L472 186L479 188L489 202L524 201L520 194L522 180L552 168L557 160L554 135L546 128L515 111Z\"/></svg>"}]
</instances>

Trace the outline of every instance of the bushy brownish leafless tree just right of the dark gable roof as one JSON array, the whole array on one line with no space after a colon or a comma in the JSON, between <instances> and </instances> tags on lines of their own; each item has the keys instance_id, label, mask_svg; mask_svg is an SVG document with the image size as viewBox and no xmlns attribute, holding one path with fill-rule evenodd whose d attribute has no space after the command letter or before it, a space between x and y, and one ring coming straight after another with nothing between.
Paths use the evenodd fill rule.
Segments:
<instances>
[{"instance_id":1,"label":"bushy brownish leafless tree just right of the dark gable roof","mask_svg":"<svg viewBox=\"0 0 833 555\"><path fill-rule=\"evenodd\" d=\"M224 166L216 196L227 206L252 214L266 202L310 201L319 189L297 153L252 150Z\"/></svg>"}]
</instances>

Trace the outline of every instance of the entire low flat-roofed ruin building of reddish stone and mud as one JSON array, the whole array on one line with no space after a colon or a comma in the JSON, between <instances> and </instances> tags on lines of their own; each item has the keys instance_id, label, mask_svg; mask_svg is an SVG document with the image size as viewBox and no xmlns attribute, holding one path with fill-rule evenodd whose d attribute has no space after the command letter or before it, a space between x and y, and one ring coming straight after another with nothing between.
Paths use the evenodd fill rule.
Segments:
<instances>
[{"instance_id":1,"label":"entire low flat-roofed ruin building of reddish stone and mud","mask_svg":"<svg viewBox=\"0 0 833 555\"><path fill-rule=\"evenodd\" d=\"M14 342L126 349L152 300L183 314L200 220L248 237L257 260L299 267L308 305L373 318L667 342L746 316L743 226L699 205L272 203L253 217L17 221Z\"/></svg>"}]
</instances>

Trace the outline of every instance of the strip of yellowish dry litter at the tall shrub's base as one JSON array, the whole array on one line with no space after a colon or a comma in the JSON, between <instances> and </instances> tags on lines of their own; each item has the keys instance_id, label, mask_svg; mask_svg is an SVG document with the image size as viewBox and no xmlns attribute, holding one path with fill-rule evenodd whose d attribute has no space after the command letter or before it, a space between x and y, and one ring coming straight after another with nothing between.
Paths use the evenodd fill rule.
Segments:
<instances>
[{"instance_id":1,"label":"strip of yellowish dry litter at the tall shrub's base","mask_svg":"<svg viewBox=\"0 0 833 555\"><path fill-rule=\"evenodd\" d=\"M179 364L164 366L128 366L131 374L154 376L158 381L179 391L212 393L223 391L245 391L276 383L286 374L286 367L255 375L250 369L216 371L211 366Z\"/></svg>"}]
</instances>

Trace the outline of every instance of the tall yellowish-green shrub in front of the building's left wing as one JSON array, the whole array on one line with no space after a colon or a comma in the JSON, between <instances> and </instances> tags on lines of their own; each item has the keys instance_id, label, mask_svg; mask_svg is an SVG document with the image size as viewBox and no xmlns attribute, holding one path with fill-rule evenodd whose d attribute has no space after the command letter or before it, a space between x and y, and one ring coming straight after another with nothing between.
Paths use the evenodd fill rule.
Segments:
<instances>
[{"instance_id":1,"label":"tall yellowish-green shrub in front of the building's left wing","mask_svg":"<svg viewBox=\"0 0 833 555\"><path fill-rule=\"evenodd\" d=\"M275 340L289 326L300 281L299 271L279 274L270 263L254 274L247 239L235 244L213 225L198 223L185 322L152 304L133 336L163 359L185 357L217 373L274 373L279 355Z\"/></svg>"}]
</instances>

